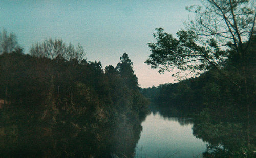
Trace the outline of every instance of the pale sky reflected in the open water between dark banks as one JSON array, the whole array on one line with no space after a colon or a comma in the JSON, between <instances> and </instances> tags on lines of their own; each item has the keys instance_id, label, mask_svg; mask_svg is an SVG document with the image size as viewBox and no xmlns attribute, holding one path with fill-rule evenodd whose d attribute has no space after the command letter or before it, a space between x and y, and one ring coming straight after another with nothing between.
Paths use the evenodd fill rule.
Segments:
<instances>
[{"instance_id":1,"label":"pale sky reflected in the open water between dark banks","mask_svg":"<svg viewBox=\"0 0 256 158\"><path fill-rule=\"evenodd\" d=\"M178 118L150 114L142 123L143 131L136 147L136 157L199 157L206 143L192 134L192 123Z\"/></svg>"}]
</instances>

